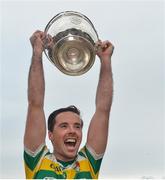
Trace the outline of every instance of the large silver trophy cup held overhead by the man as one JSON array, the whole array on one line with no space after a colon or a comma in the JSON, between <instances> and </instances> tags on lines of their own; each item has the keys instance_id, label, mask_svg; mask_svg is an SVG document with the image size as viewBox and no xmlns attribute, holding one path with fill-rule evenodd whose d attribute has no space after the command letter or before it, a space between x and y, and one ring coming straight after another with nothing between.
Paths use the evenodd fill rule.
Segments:
<instances>
[{"instance_id":1,"label":"large silver trophy cup held overhead by the man","mask_svg":"<svg viewBox=\"0 0 165 180\"><path fill-rule=\"evenodd\" d=\"M45 28L53 46L45 49L47 58L64 74L78 76L94 64L98 34L83 14L65 11L54 16Z\"/></svg>"}]
</instances>

